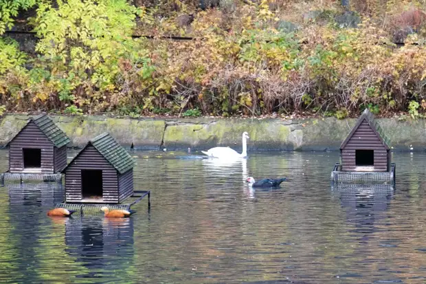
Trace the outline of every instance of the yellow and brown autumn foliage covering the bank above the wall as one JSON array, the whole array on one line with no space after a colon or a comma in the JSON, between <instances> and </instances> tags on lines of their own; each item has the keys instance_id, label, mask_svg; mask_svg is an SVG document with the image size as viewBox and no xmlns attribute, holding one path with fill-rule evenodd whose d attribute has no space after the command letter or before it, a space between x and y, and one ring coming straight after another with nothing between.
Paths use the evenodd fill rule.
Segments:
<instances>
[{"instance_id":1,"label":"yellow and brown autumn foliage covering the bank above the wall","mask_svg":"<svg viewBox=\"0 0 426 284\"><path fill-rule=\"evenodd\" d=\"M345 118L426 107L421 3L352 1L361 23L341 28L340 1L57 2L29 21L38 56L0 40L9 111Z\"/></svg>"}]
</instances>

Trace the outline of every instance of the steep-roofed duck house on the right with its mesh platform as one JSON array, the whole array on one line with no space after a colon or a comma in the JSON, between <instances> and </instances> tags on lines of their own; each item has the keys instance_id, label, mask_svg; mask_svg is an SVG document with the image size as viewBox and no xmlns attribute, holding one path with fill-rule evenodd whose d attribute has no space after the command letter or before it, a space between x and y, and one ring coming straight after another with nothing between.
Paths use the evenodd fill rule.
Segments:
<instances>
[{"instance_id":1,"label":"steep-roofed duck house on the right with its mesh platform","mask_svg":"<svg viewBox=\"0 0 426 284\"><path fill-rule=\"evenodd\" d=\"M341 164L333 168L332 179L340 180L340 175L341 181L394 183L395 164L388 145L383 129L366 109L341 143Z\"/></svg>"}]
</instances>

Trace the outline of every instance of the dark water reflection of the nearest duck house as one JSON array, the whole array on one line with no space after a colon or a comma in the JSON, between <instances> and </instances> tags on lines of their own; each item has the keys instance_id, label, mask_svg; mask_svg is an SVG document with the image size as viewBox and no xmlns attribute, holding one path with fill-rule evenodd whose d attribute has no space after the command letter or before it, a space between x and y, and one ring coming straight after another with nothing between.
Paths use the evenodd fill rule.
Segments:
<instances>
[{"instance_id":1,"label":"dark water reflection of the nearest duck house","mask_svg":"<svg viewBox=\"0 0 426 284\"><path fill-rule=\"evenodd\" d=\"M67 253L87 267L91 278L125 269L133 257L133 218L74 217L65 223Z\"/></svg>"}]
</instances>

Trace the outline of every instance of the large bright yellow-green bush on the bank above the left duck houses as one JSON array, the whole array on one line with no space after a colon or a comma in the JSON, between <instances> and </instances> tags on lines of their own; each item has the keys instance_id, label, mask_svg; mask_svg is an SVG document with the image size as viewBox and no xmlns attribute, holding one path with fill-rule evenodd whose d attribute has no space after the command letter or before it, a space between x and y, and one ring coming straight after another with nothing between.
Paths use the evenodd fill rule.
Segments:
<instances>
[{"instance_id":1,"label":"large bright yellow-green bush on the bank above the left duck houses","mask_svg":"<svg viewBox=\"0 0 426 284\"><path fill-rule=\"evenodd\" d=\"M58 77L67 80L71 75L69 81L75 83L64 87L64 94L86 79L100 89L111 88L120 61L137 63L141 54L131 38L135 12L125 0L58 0L57 9L39 4L35 31L41 40L36 51Z\"/></svg>"}]
</instances>

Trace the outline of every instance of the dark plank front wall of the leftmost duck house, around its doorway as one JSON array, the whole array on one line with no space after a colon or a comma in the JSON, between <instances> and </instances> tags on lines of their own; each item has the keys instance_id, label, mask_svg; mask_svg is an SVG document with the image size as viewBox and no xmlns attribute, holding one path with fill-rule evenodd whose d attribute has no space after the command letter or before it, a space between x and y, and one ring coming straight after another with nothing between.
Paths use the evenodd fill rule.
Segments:
<instances>
[{"instance_id":1,"label":"dark plank front wall of the leftmost duck house, around its doorway","mask_svg":"<svg viewBox=\"0 0 426 284\"><path fill-rule=\"evenodd\" d=\"M9 146L9 171L11 173L23 171L22 149L24 148L41 149L42 173L54 173L54 144L34 122L28 123L10 142Z\"/></svg>"}]
</instances>

